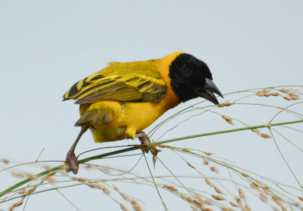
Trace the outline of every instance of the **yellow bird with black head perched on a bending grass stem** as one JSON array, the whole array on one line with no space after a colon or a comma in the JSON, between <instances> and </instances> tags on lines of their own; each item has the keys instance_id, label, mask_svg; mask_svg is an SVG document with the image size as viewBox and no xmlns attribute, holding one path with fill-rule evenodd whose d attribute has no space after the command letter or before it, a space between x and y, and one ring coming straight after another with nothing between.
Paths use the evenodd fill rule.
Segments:
<instances>
[{"instance_id":1,"label":"yellow bird with black head perched on a bending grass stem","mask_svg":"<svg viewBox=\"0 0 303 211\"><path fill-rule=\"evenodd\" d=\"M89 129L97 143L139 138L162 114L197 97L219 104L223 95L212 81L208 65L191 54L178 51L160 59L109 62L101 71L78 81L62 96L80 105L81 130L68 150L67 171L78 173L75 147Z\"/></svg>"}]
</instances>

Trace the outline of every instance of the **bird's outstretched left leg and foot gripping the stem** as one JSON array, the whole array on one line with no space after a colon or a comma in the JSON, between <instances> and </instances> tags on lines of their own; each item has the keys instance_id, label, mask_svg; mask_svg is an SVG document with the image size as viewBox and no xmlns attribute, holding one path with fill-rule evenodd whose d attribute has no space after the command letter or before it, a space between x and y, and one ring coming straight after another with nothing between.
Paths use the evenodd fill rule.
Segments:
<instances>
[{"instance_id":1,"label":"bird's outstretched left leg and foot gripping the stem","mask_svg":"<svg viewBox=\"0 0 303 211\"><path fill-rule=\"evenodd\" d=\"M80 133L78 134L78 137L76 138L75 142L73 143L72 147L68 150L68 153L66 155L65 163L69 163L67 172L72 171L74 174L78 173L79 164L77 157L75 156L75 148L77 146L78 141L80 140L81 136L85 133L85 131L88 129L87 125L81 126Z\"/></svg>"}]
</instances>

